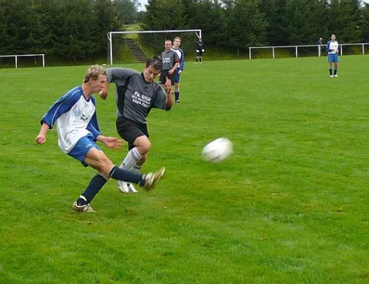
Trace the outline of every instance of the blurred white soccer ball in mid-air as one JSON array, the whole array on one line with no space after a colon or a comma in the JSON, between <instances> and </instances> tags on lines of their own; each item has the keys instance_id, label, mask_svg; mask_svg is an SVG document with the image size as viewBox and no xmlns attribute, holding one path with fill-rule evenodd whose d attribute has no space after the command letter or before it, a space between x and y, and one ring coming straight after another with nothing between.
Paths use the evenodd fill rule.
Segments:
<instances>
[{"instance_id":1,"label":"blurred white soccer ball in mid-air","mask_svg":"<svg viewBox=\"0 0 369 284\"><path fill-rule=\"evenodd\" d=\"M220 163L233 153L233 144L227 138L217 138L203 148L202 157L210 163Z\"/></svg>"}]
</instances>

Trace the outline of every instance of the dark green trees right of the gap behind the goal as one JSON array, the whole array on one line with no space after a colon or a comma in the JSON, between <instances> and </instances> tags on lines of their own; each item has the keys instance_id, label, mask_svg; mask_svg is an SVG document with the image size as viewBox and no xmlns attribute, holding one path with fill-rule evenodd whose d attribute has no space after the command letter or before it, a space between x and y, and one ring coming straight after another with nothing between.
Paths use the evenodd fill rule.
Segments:
<instances>
[{"instance_id":1,"label":"dark green trees right of the gap behind the goal","mask_svg":"<svg viewBox=\"0 0 369 284\"><path fill-rule=\"evenodd\" d=\"M175 17L174 17L175 16ZM149 0L143 28L201 28L207 45L307 45L332 33L369 42L369 4L361 0Z\"/></svg>"}]
</instances>

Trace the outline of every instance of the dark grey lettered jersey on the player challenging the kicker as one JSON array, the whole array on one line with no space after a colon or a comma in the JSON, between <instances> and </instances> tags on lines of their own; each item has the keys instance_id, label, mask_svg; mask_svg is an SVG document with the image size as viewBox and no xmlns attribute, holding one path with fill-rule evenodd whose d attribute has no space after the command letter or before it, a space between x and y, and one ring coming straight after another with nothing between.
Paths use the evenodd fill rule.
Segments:
<instances>
[{"instance_id":1,"label":"dark grey lettered jersey on the player challenging the kicker","mask_svg":"<svg viewBox=\"0 0 369 284\"><path fill-rule=\"evenodd\" d=\"M115 102L118 116L147 123L152 108L166 109L166 93L157 82L147 83L143 73L127 68L108 68L109 83L115 83Z\"/></svg>"}]
</instances>

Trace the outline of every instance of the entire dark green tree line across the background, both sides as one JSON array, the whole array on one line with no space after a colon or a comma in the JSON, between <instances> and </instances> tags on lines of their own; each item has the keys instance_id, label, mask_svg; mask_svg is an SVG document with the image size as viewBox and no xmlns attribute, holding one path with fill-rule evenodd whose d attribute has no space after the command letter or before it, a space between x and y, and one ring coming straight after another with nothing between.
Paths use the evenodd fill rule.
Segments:
<instances>
[{"instance_id":1,"label":"entire dark green tree line across the background, both sides","mask_svg":"<svg viewBox=\"0 0 369 284\"><path fill-rule=\"evenodd\" d=\"M106 34L127 23L142 30L200 28L207 46L369 42L369 5L361 0L0 0L0 54L45 53L59 60L105 56Z\"/></svg>"}]
</instances>

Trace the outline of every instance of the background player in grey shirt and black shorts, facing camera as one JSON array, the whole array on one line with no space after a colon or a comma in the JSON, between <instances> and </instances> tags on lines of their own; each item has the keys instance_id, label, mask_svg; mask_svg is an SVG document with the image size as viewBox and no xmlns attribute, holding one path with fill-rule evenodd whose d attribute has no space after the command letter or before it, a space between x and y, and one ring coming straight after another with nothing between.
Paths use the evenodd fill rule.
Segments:
<instances>
[{"instance_id":1,"label":"background player in grey shirt and black shorts, facing camera","mask_svg":"<svg viewBox=\"0 0 369 284\"><path fill-rule=\"evenodd\" d=\"M164 87L167 81L171 84L172 90L174 92L174 72L176 72L179 66L179 58L177 53L171 49L171 40L165 40L164 43L165 50L161 53L161 60L163 62L163 67L161 68L159 84Z\"/></svg>"}]
</instances>

